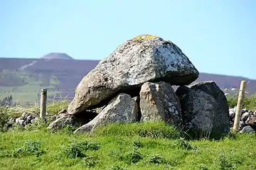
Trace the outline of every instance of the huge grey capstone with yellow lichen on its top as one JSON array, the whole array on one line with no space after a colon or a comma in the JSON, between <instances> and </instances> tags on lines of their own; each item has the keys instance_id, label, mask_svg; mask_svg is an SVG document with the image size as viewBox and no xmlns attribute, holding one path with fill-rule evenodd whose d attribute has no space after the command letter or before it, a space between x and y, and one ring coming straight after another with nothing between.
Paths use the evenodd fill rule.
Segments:
<instances>
[{"instance_id":1,"label":"huge grey capstone with yellow lichen on its top","mask_svg":"<svg viewBox=\"0 0 256 170\"><path fill-rule=\"evenodd\" d=\"M68 113L75 115L97 108L117 93L129 90L132 93L146 81L187 85L196 80L198 74L174 43L151 35L133 38L119 45L80 81Z\"/></svg>"}]
</instances>

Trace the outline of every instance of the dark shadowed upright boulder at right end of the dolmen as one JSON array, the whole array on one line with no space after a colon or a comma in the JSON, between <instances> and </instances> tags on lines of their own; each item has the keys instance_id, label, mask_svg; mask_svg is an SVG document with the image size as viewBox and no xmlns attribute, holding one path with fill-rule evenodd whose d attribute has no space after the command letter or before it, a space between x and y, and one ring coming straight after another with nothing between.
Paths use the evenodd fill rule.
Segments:
<instances>
[{"instance_id":1,"label":"dark shadowed upright boulder at right end of the dolmen","mask_svg":"<svg viewBox=\"0 0 256 170\"><path fill-rule=\"evenodd\" d=\"M230 131L228 108L225 109L228 103L221 97L216 99L216 96L221 96L218 88L210 89L209 86L213 84L201 83L200 87L196 85L191 89L180 86L176 95L181 101L184 128L194 135L217 137Z\"/></svg>"}]
</instances>

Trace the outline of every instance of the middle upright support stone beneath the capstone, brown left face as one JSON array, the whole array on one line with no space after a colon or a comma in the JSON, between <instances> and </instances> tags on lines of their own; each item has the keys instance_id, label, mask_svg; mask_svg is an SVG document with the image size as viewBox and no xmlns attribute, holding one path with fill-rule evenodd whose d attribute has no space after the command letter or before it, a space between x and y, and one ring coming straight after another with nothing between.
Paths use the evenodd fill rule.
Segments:
<instances>
[{"instance_id":1,"label":"middle upright support stone beneath the capstone, brown left face","mask_svg":"<svg viewBox=\"0 0 256 170\"><path fill-rule=\"evenodd\" d=\"M171 85L146 82L140 91L141 121L161 121L182 127L181 103Z\"/></svg>"}]
</instances>

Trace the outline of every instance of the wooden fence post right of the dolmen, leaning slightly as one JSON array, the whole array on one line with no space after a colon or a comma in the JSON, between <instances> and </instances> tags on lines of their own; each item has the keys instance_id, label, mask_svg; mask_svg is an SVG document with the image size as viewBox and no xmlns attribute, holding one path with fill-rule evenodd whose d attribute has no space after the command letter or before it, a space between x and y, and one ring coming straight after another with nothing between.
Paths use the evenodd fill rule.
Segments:
<instances>
[{"instance_id":1,"label":"wooden fence post right of the dolmen, leaning slightly","mask_svg":"<svg viewBox=\"0 0 256 170\"><path fill-rule=\"evenodd\" d=\"M233 130L235 132L238 132L239 124L240 124L240 119L241 119L241 111L242 111L242 101L245 98L245 81L242 80L240 84L240 91L238 95L238 105L235 111L235 121L234 121L234 126Z\"/></svg>"}]
</instances>

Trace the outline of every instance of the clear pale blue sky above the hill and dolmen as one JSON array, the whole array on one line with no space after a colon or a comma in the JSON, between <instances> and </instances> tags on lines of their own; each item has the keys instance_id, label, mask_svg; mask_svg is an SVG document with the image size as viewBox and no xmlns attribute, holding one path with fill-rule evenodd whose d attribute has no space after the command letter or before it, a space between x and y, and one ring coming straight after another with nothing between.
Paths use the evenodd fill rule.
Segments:
<instances>
[{"instance_id":1,"label":"clear pale blue sky above the hill and dolmen","mask_svg":"<svg viewBox=\"0 0 256 170\"><path fill-rule=\"evenodd\" d=\"M148 33L176 43L199 72L256 79L255 0L0 0L0 24L0 57L100 60Z\"/></svg>"}]
</instances>

